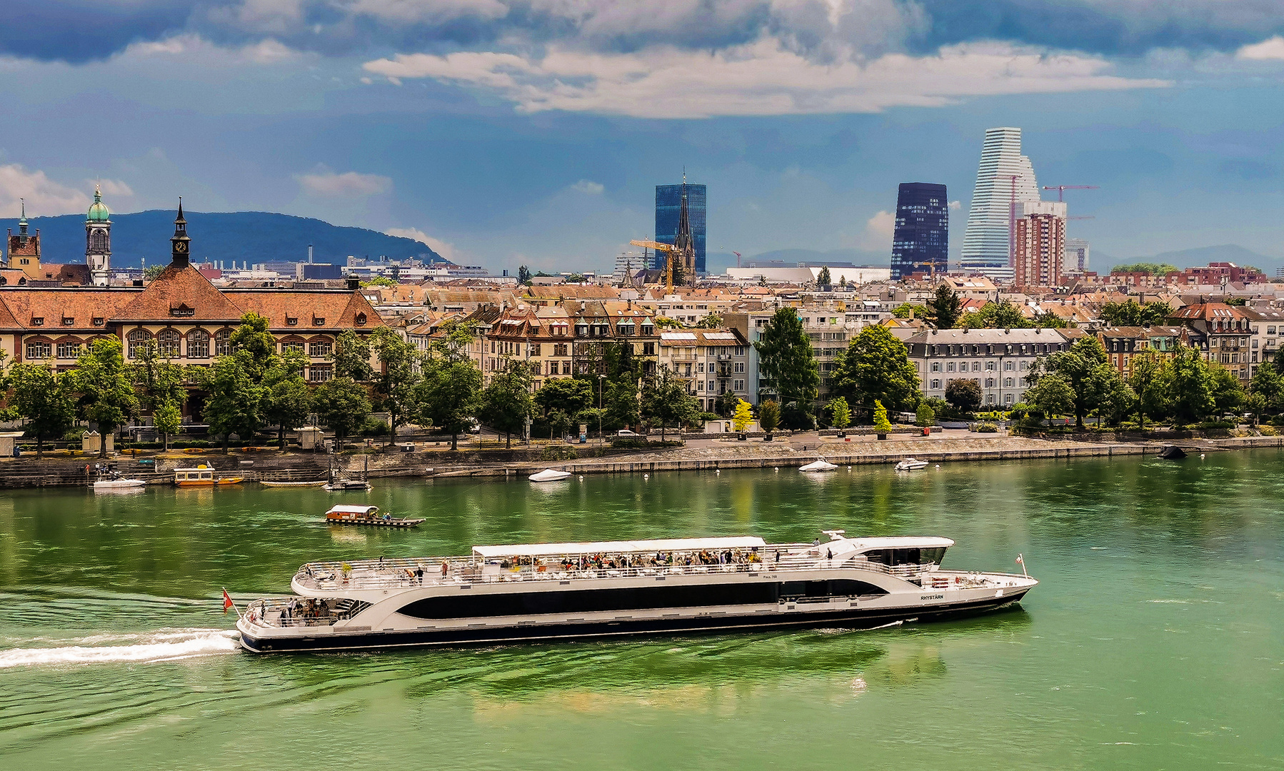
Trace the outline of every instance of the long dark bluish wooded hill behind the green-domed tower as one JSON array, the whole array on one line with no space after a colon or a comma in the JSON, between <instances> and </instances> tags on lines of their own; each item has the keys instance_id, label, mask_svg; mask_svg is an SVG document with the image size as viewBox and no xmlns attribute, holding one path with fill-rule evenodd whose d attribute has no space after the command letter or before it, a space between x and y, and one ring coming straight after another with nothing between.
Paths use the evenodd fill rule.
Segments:
<instances>
[{"instance_id":1,"label":"long dark bluish wooded hill behind the green-domed tower","mask_svg":"<svg viewBox=\"0 0 1284 771\"><path fill-rule=\"evenodd\" d=\"M112 214L112 267L139 267L169 262L172 210ZM268 260L306 260L308 244L313 260L343 264L348 255L389 259L417 257L425 262L446 262L425 244L389 236L363 227L339 227L321 219L291 217L272 212L184 212L191 236L193 262L235 260L250 264ZM28 230L40 228L41 259L48 263L85 260L85 216L35 217ZM4 228L18 230L17 219L0 219ZM231 267L230 264L227 267Z\"/></svg>"}]
</instances>

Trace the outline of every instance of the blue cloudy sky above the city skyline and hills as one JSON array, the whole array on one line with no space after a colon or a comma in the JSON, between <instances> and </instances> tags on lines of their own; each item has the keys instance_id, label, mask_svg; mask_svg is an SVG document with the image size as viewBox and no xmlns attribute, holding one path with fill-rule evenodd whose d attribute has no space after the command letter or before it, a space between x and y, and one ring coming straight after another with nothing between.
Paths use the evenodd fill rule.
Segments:
<instances>
[{"instance_id":1,"label":"blue cloudy sky above the city skyline and hills","mask_svg":"<svg viewBox=\"0 0 1284 771\"><path fill-rule=\"evenodd\" d=\"M908 181L957 254L1018 126L1040 185L1099 187L1066 192L1094 251L1284 258L1281 105L1278 0L8 0L0 216L99 183L601 269L686 171L711 260L887 255Z\"/></svg>"}]
</instances>

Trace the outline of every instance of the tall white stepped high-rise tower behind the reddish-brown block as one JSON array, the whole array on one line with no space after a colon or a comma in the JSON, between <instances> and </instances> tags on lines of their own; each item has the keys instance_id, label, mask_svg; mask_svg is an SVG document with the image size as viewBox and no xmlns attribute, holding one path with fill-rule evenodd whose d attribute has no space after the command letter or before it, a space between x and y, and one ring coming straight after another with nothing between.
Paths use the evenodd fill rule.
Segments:
<instances>
[{"instance_id":1,"label":"tall white stepped high-rise tower behind the reddish-brown block","mask_svg":"<svg viewBox=\"0 0 1284 771\"><path fill-rule=\"evenodd\" d=\"M972 208L963 233L962 268L995 280L1013 275L1009 228L1013 204L1039 200L1030 159L1021 154L1021 130L986 128L981 167L976 172Z\"/></svg>"}]
</instances>

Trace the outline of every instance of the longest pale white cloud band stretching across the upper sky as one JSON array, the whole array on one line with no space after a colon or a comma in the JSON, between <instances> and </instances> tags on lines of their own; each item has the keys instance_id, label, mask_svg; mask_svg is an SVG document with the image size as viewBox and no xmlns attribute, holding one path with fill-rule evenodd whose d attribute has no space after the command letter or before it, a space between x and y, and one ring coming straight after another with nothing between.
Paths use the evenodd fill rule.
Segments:
<instances>
[{"instance_id":1,"label":"longest pale white cloud band stretching across the upper sky","mask_svg":"<svg viewBox=\"0 0 1284 771\"><path fill-rule=\"evenodd\" d=\"M928 56L811 62L778 38L722 51L657 46L593 54L550 46L511 53L402 54L365 64L388 78L434 78L494 91L520 112L591 112L652 118L871 113L940 106L966 96L1147 89L1170 85L1108 74L1094 56L1005 44L949 46Z\"/></svg>"}]
</instances>

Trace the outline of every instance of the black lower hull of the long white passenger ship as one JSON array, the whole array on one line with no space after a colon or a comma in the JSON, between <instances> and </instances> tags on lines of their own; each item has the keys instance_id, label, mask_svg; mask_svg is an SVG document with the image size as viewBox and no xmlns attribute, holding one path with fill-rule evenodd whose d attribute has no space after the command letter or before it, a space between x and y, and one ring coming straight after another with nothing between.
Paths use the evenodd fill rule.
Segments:
<instances>
[{"instance_id":1,"label":"black lower hull of the long white passenger ship","mask_svg":"<svg viewBox=\"0 0 1284 771\"><path fill-rule=\"evenodd\" d=\"M616 618L610 621L488 626L485 629L335 632L330 631L330 627L317 627L317 634L315 635L289 638L259 638L241 629L240 643L243 648L253 653L290 653L496 645L505 643L568 643L639 635L734 634L828 627L868 630L904 621L948 621L987 613L1018 603L1028 590L1030 588L1021 588L1005 591L1002 597L986 597L924 607L855 607L818 612L725 613L687 616L682 618Z\"/></svg>"}]
</instances>

